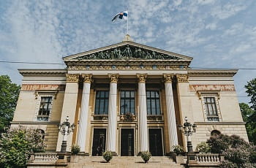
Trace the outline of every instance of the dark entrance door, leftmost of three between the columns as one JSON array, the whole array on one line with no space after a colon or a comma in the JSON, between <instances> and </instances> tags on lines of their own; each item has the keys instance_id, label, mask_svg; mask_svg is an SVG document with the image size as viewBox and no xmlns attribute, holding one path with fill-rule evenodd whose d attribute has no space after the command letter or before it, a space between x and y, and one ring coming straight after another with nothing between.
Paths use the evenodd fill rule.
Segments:
<instances>
[{"instance_id":1,"label":"dark entrance door, leftmost of three between the columns","mask_svg":"<svg viewBox=\"0 0 256 168\"><path fill-rule=\"evenodd\" d=\"M92 145L92 156L102 156L105 152L106 129L94 129L94 140Z\"/></svg>"}]
</instances>

